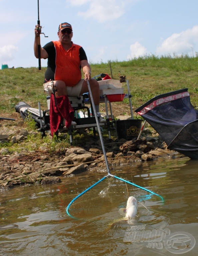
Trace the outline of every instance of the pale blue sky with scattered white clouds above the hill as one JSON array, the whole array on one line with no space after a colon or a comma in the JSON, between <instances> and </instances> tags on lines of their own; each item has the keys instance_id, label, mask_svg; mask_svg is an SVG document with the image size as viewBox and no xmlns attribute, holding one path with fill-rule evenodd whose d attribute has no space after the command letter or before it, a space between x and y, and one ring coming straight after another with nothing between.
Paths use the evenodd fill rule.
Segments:
<instances>
[{"instance_id":1,"label":"pale blue sky with scattered white clouds above the hill","mask_svg":"<svg viewBox=\"0 0 198 256\"><path fill-rule=\"evenodd\" d=\"M38 67L34 57L37 0L0 0L0 64ZM73 42L90 63L154 54L195 56L197 0L39 0L41 45L58 40L61 22L73 27ZM46 66L47 61L41 60Z\"/></svg>"}]
</instances>

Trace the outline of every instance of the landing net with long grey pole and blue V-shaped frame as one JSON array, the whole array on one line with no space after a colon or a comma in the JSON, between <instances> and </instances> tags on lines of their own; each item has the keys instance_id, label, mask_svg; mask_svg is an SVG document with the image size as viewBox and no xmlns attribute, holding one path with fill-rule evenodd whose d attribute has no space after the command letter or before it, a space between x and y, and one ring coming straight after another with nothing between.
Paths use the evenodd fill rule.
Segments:
<instances>
[{"instance_id":1,"label":"landing net with long grey pole and blue V-shaped frame","mask_svg":"<svg viewBox=\"0 0 198 256\"><path fill-rule=\"evenodd\" d=\"M162 200L162 202L164 202L164 199L162 196L154 193L153 191L149 190L149 189L146 189L144 187L141 187L133 182L130 182L126 179L122 179L118 176L115 176L115 175L112 175L110 173L110 169L109 169L109 163L108 163L108 160L107 160L107 156L106 156L106 151L105 151L105 147L104 147L104 142L103 142L103 138L102 138L102 133L101 133L101 130L100 130L100 124L99 124L99 120L98 120L98 117L97 117L97 113L96 113L96 108L95 108L95 105L94 105L94 101L93 101L93 96L92 96L92 92L91 92L91 88L90 88L90 84L89 84L89 81L86 79L86 82L87 82L87 86L88 86L88 90L89 90L89 95L90 95L90 99L91 99L91 104L92 104L92 108L93 108L93 111L94 111L94 115L95 115L95 119L96 119L96 124L97 124L97 128L98 128L98 133L99 133L99 137L100 137L100 141L101 141L101 146L102 146L102 150L103 150L103 154L104 154L104 159L105 159L105 164L106 164L106 168L107 168L107 175L104 176L102 179L98 180L96 183L94 183L93 185L91 185L90 187L88 187L87 189L85 189L82 193L80 193L79 195L77 195L74 199L72 199L72 201L68 204L67 208L66 208L66 212L67 214L72 217L72 218L75 218L75 219L78 219L76 217L74 217L72 214L69 213L69 209L74 206L75 208L75 203L77 201L77 208L81 208L80 210L82 210L82 212L85 212L86 211L86 208L94 208L94 204L93 204L93 198L94 200L97 198L99 198L99 196L101 196L101 199L103 199L103 205L102 207L104 208L105 207L105 203L108 205L109 202L105 201L106 198L107 198L107 195L111 194L112 195L112 198L115 197L115 191L117 191L119 189L119 191L121 191L120 193L126 193L126 188L124 188L123 184L122 183L116 183L115 180L117 181L122 181L125 183L125 186L126 184L129 184L129 185L132 185L133 186L133 193L134 193L134 187L137 187L137 188L140 188L141 190L144 190L146 192L148 192L150 195L156 195L158 197L160 197L160 199ZM115 178L115 179L107 179L107 178ZM106 183L104 183L104 181L108 180L108 184L106 185ZM102 182L103 181L103 182ZM104 183L104 186L103 186L103 183ZM97 186L98 189L93 189ZM118 186L119 185L119 186ZM115 188L116 187L116 188ZM91 190L91 192L90 192ZM129 189L130 190L130 189ZM129 190L128 190L128 187L127 187L127 194L129 194ZM89 193L90 192L90 193ZM120 197L120 193L119 193L119 197ZM84 201L86 202L85 205L82 205L82 201L83 201L83 196L85 195L85 199ZM89 207L89 197L90 197L90 200L91 203L90 203L90 207ZM92 198L91 198L92 197ZM147 196L146 196L147 197ZM146 199L145 197L145 199ZM148 198L150 198L150 196L148 196ZM79 200L77 200L79 199ZM111 199L113 200L113 199ZM117 198L115 198L115 200L117 200ZM95 204L98 206L98 200L96 200ZM108 205L109 206L109 205ZM78 214L80 216L82 216L82 213L79 213L79 209L76 211L78 212Z\"/></svg>"}]
</instances>

